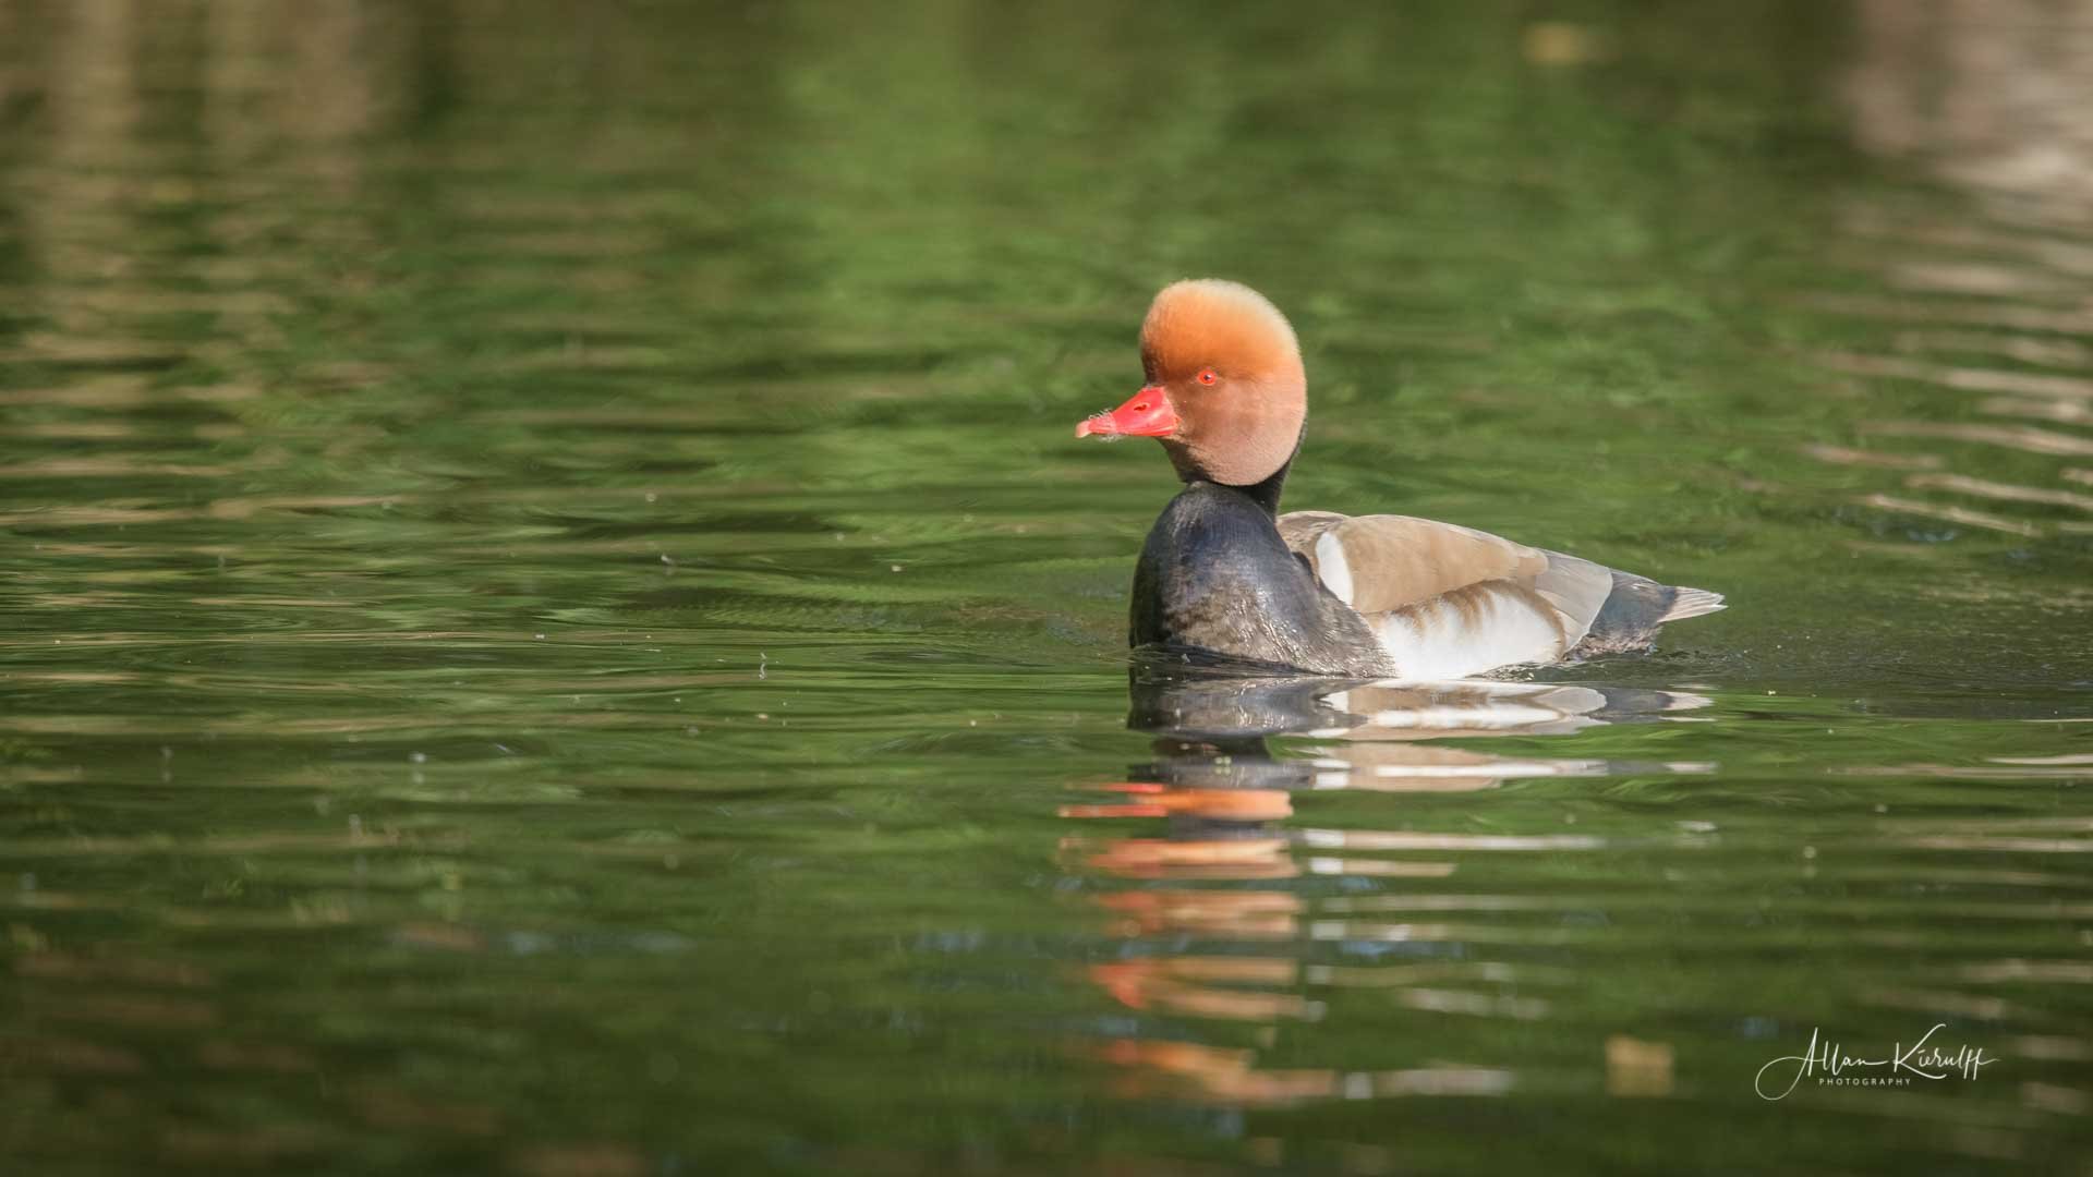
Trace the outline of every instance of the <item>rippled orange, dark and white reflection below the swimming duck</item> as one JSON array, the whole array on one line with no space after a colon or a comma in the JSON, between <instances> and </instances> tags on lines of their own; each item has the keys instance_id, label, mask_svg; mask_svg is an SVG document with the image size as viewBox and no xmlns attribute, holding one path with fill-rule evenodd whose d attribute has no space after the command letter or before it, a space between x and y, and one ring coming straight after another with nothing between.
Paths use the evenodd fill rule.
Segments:
<instances>
[{"instance_id":1,"label":"rippled orange, dark and white reflection below the swimming duck","mask_svg":"<svg viewBox=\"0 0 2093 1177\"><path fill-rule=\"evenodd\" d=\"M1128 727L1153 733L1153 760L1105 794L1061 810L1074 819L1164 819L1160 836L1070 838L1063 863L1128 880L1095 894L1113 938L1141 945L1090 963L1086 976L1143 1018L1279 1026L1335 1016L1335 991L1373 989L1427 1016L1543 1018L1536 989L1561 982L1532 961L1492 959L1488 940L1430 955L1356 953L1325 963L1319 945L1469 940L1476 926L1383 919L1379 911L1494 911L1503 896L1417 892L1453 880L1467 852L1593 850L1578 834L1490 836L1289 829L1296 794L1321 790L1488 790L1509 777L1601 775L1605 760L1492 756L1436 737L1563 735L1607 723L1658 723L1708 699L1668 691L1551 683L1371 683L1231 676L1170 664L1134 668ZM1275 735L1314 741L1281 754ZM1649 767L1635 767L1647 771ZM1693 769L1664 764L1666 771ZM1306 854L1296 857L1300 848ZM1329 896L1302 878L1377 880L1371 898ZM1252 886L1243 886L1252 884ZM1444 886L1444 884L1440 884ZM1201 951L1201 942L1212 949ZM1352 963L1371 959L1375 963ZM1438 1062L1390 1070L1270 1068L1262 1049L1222 1049L1143 1030L1099 1056L1122 1068L1126 1095L1195 1095L1224 1104L1335 1097L1496 1095L1513 1074ZM1413 1060L1423 1062L1423 1060Z\"/></svg>"}]
</instances>

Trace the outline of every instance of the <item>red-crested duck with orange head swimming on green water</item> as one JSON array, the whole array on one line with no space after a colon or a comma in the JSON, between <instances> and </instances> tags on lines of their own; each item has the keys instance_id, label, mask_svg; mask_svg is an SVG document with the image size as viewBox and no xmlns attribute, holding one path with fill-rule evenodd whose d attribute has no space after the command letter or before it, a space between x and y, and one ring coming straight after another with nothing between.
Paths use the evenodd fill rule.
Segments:
<instances>
[{"instance_id":1,"label":"red-crested duck with orange head swimming on green water","mask_svg":"<svg viewBox=\"0 0 2093 1177\"><path fill-rule=\"evenodd\" d=\"M1413 515L1279 511L1308 423L1293 325L1224 279L1164 287L1141 392L1076 438L1155 438L1183 490L1134 565L1128 645L1185 662L1446 681L1647 651L1720 593Z\"/></svg>"}]
</instances>

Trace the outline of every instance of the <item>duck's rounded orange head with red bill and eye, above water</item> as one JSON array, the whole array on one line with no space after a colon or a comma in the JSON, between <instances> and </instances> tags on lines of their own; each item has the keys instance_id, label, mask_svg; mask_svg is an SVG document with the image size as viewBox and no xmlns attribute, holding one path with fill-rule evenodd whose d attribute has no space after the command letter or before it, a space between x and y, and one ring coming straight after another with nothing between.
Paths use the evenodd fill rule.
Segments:
<instances>
[{"instance_id":1,"label":"duck's rounded orange head with red bill and eye, above water","mask_svg":"<svg viewBox=\"0 0 2093 1177\"><path fill-rule=\"evenodd\" d=\"M1293 327L1258 291L1164 287L1141 323L1141 392L1076 425L1078 438L1157 438L1180 478L1222 486L1256 486L1293 459L1308 375Z\"/></svg>"}]
</instances>

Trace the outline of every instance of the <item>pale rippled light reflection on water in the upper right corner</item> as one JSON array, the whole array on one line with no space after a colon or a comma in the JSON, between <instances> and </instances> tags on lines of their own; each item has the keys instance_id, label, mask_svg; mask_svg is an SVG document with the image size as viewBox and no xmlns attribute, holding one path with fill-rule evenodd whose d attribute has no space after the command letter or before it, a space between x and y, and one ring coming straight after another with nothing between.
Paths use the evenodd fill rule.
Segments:
<instances>
[{"instance_id":1,"label":"pale rippled light reflection on water in the upper right corner","mask_svg":"<svg viewBox=\"0 0 2093 1177\"><path fill-rule=\"evenodd\" d=\"M1905 475L1903 490L1919 496L1856 501L2022 538L2093 534L2093 496L2068 486L2087 478L2068 463L2093 457L2093 438L2070 429L2093 421L2093 360L2080 341L2093 331L2093 138L2068 115L2093 103L2085 69L2093 10L2009 2L1972 19L1976 10L1953 4L1867 2L1856 15L1861 52L1844 86L1856 142L1915 161L1967 197L1953 214L1894 197L1854 201L1844 262L1880 274L1894 295L1810 299L1829 314L1903 327L1886 339L1894 354L1821 352L1827 369L1894 381L1934 402L1913 408L1963 417L1867 421L1865 438L1890 440L1884 457L1909 440L1951 442L1951 461L1965 469L1940 469L1944 454L1913 454L1926 465ZM1955 400L1974 396L1982 396L1974 413L1955 413ZM2064 461L2016 463L2024 482L1974 478L1999 465L1988 448Z\"/></svg>"}]
</instances>

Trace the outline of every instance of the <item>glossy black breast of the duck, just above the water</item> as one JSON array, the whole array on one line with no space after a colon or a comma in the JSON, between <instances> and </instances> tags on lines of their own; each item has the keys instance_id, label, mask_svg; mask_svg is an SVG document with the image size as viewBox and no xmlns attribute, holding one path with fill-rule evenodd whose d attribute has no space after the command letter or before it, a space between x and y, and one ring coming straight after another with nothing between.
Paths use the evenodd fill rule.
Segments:
<instances>
[{"instance_id":1,"label":"glossy black breast of the duck, just above the water","mask_svg":"<svg viewBox=\"0 0 2093 1177\"><path fill-rule=\"evenodd\" d=\"M1141 547L1128 641L1312 674L1392 674L1350 605L1287 551L1270 509L1212 482L1191 482Z\"/></svg>"}]
</instances>

